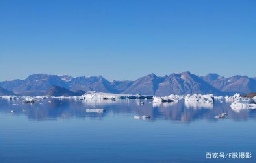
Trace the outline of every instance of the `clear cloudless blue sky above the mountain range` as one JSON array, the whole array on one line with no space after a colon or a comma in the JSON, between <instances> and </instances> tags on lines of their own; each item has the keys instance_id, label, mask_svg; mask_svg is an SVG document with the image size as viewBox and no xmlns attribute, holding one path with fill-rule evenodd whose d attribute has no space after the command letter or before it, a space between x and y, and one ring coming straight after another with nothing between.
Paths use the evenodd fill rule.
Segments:
<instances>
[{"instance_id":1,"label":"clear cloudless blue sky above the mountain range","mask_svg":"<svg viewBox=\"0 0 256 163\"><path fill-rule=\"evenodd\" d=\"M0 81L191 71L256 77L254 0L0 0Z\"/></svg>"}]
</instances>

